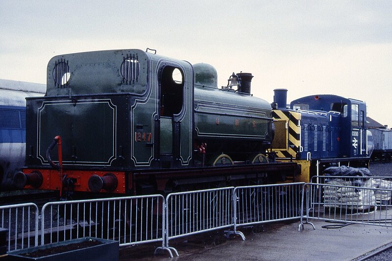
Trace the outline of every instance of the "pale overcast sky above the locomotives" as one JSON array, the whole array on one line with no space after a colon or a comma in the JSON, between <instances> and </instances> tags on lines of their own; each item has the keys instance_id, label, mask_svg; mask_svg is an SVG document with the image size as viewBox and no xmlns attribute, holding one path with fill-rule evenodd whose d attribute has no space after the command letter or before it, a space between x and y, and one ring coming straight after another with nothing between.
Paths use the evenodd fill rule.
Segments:
<instances>
[{"instance_id":1,"label":"pale overcast sky above the locomotives","mask_svg":"<svg viewBox=\"0 0 392 261\"><path fill-rule=\"evenodd\" d=\"M392 127L392 1L0 0L0 78L46 83L55 55L146 48L218 71L251 72L272 102L335 94L365 100Z\"/></svg>"}]
</instances>

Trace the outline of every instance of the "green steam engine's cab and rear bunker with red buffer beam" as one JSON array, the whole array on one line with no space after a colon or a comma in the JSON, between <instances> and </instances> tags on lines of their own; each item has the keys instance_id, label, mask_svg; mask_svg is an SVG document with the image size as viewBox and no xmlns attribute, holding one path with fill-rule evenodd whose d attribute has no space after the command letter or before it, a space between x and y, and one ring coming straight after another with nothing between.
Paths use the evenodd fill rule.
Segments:
<instances>
[{"instance_id":1,"label":"green steam engine's cab and rear bunker with red buffer beam","mask_svg":"<svg viewBox=\"0 0 392 261\"><path fill-rule=\"evenodd\" d=\"M126 193L136 170L189 166L192 104L188 62L138 49L55 56L47 95L27 99L27 167L16 186ZM62 150L59 140L48 150L58 136Z\"/></svg>"}]
</instances>

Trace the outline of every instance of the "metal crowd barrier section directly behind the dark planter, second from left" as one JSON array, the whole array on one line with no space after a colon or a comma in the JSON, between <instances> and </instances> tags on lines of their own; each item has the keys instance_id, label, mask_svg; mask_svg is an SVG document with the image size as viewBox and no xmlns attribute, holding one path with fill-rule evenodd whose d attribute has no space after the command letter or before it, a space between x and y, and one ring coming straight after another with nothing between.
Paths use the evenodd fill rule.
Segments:
<instances>
[{"instance_id":1,"label":"metal crowd barrier section directly behind the dark planter, second from left","mask_svg":"<svg viewBox=\"0 0 392 261\"><path fill-rule=\"evenodd\" d=\"M164 245L165 199L162 195L50 202L42 208L42 237L59 242L82 237L118 240L120 246L161 241Z\"/></svg>"}]
</instances>

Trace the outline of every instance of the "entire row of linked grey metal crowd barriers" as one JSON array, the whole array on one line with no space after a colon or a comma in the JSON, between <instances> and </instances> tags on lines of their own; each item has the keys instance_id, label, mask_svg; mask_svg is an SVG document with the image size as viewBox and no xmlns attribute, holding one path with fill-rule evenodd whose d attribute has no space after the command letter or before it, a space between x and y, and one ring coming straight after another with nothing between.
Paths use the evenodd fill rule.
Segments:
<instances>
[{"instance_id":1,"label":"entire row of linked grey metal crowd barriers","mask_svg":"<svg viewBox=\"0 0 392 261\"><path fill-rule=\"evenodd\" d=\"M309 219L392 226L392 209L388 209L392 189L384 188L390 184L389 177L360 177L363 181L358 177L318 178L320 183L196 190L171 193L166 199L149 195L50 202L41 211L41 233L36 205L5 206L0 210L3 227L11 224L9 250L29 247L30 237L38 245L40 234L41 244L81 237L117 240L121 246L161 242L155 253L164 250L171 257L172 251L176 256L178 253L169 247L170 239L223 228L232 229L227 237L237 234L245 240L237 231L241 226L292 219L300 219L298 229L310 223ZM364 182L373 184L373 188L344 186ZM26 229L19 230L26 225Z\"/></svg>"}]
</instances>

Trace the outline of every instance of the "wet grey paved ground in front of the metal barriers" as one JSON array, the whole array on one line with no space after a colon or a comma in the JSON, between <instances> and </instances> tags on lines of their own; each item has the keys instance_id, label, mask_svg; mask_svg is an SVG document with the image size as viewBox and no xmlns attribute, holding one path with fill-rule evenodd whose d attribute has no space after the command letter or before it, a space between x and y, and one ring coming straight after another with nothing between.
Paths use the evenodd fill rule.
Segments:
<instances>
[{"instance_id":1,"label":"wet grey paved ground in front of the metal barriers","mask_svg":"<svg viewBox=\"0 0 392 261\"><path fill-rule=\"evenodd\" d=\"M252 234L245 230L246 240L239 237L214 246L211 234L188 240L171 241L179 257L172 261L343 261L352 260L392 241L392 228L349 225L339 229L325 229L322 221L314 221L316 230L305 225L298 232L298 222L279 223L266 231ZM218 235L217 235L218 236ZM193 241L190 241L193 240ZM210 240L210 242L208 242ZM168 260L168 254L153 256L155 245L123 249L120 260Z\"/></svg>"}]
</instances>

